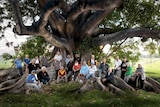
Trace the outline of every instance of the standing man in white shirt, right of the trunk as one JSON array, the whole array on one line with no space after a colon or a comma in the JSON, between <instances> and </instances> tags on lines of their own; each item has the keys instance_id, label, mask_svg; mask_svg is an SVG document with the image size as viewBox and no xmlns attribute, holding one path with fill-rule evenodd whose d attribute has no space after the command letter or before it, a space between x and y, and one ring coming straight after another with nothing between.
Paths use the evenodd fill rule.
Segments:
<instances>
[{"instance_id":1,"label":"standing man in white shirt, right of the trunk","mask_svg":"<svg viewBox=\"0 0 160 107\"><path fill-rule=\"evenodd\" d=\"M121 77L121 64L122 64L122 61L119 59L119 56L117 56L116 60L115 60L115 72L114 72L114 74L118 77Z\"/></svg>"}]
</instances>

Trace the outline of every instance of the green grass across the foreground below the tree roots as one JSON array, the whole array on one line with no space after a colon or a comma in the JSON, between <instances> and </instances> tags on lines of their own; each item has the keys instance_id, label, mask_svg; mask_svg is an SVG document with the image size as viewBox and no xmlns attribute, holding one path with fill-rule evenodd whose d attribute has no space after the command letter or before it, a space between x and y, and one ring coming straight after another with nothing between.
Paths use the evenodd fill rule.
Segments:
<instances>
[{"instance_id":1,"label":"green grass across the foreground below the tree roots","mask_svg":"<svg viewBox=\"0 0 160 107\"><path fill-rule=\"evenodd\" d=\"M160 94L137 91L112 95L100 90L68 92L79 84L56 84L48 94L5 94L0 107L160 107Z\"/></svg>"}]
</instances>

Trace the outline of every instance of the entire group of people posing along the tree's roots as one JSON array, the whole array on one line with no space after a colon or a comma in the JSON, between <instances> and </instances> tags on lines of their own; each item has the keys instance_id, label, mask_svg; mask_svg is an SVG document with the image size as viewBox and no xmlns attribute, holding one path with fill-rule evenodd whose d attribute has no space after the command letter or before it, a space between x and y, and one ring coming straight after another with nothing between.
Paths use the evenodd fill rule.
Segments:
<instances>
[{"instance_id":1,"label":"entire group of people posing along the tree's roots","mask_svg":"<svg viewBox=\"0 0 160 107\"><path fill-rule=\"evenodd\" d=\"M127 61L126 58L121 61L118 56L115 59L114 68L111 68L109 64L107 64L106 58L103 58L102 61L98 62L94 55L91 55L89 60L82 61L82 64L79 54L75 54L74 58L72 58L70 55L67 55L67 58L65 59L65 65L62 64L62 60L63 57L59 51L54 56L51 65L48 64L48 59L45 54L41 57L41 59L36 56L31 61L29 56L26 55L24 59L24 69L28 70L29 72L26 81L27 84L36 85L37 89L41 88L41 84L48 84L50 77L46 71L46 68L49 66L51 66L56 72L55 79L57 83L61 81L67 82L70 80L83 82L87 79L98 76L101 78L102 83L107 85L108 83L112 82L114 75L121 77L127 83L132 76L132 67L129 61ZM22 76L23 68L19 55L15 60L15 64L19 76ZM36 73L37 69L41 69L41 71ZM140 81L140 87L143 88L145 72L141 64L138 64L135 76L136 79Z\"/></svg>"}]
</instances>

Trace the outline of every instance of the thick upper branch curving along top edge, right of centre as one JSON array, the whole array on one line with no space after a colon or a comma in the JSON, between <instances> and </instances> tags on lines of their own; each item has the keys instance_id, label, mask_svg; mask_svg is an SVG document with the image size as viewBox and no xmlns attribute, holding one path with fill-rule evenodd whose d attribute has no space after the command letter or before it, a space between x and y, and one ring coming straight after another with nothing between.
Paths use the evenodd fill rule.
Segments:
<instances>
[{"instance_id":1,"label":"thick upper branch curving along top edge, right of centre","mask_svg":"<svg viewBox=\"0 0 160 107\"><path fill-rule=\"evenodd\" d=\"M88 10L108 10L119 7L123 0L78 0L68 13L68 19L75 20L82 12Z\"/></svg>"}]
</instances>

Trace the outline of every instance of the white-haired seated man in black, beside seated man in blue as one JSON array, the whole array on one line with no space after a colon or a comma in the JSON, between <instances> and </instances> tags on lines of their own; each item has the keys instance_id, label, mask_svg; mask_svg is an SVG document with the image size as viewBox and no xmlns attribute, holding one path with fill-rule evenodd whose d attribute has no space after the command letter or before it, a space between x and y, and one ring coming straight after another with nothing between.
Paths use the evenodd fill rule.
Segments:
<instances>
[{"instance_id":1,"label":"white-haired seated man in black, beside seated man in blue","mask_svg":"<svg viewBox=\"0 0 160 107\"><path fill-rule=\"evenodd\" d=\"M38 79L40 80L40 82L42 82L43 84L48 84L48 81L50 80L50 77L46 71L46 67L43 66L41 68L41 71L37 74Z\"/></svg>"}]
</instances>

